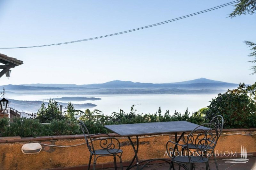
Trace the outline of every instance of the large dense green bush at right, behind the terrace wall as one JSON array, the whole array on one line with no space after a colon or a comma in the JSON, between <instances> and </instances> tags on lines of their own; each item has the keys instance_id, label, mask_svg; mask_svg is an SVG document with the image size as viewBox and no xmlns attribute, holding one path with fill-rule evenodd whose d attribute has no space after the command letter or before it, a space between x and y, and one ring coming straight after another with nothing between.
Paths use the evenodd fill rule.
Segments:
<instances>
[{"instance_id":1,"label":"large dense green bush at right, behind the terrace wall","mask_svg":"<svg viewBox=\"0 0 256 170\"><path fill-rule=\"evenodd\" d=\"M216 115L224 118L224 128L256 127L256 83L240 84L234 90L228 90L212 99L206 118L210 121Z\"/></svg>"}]
</instances>

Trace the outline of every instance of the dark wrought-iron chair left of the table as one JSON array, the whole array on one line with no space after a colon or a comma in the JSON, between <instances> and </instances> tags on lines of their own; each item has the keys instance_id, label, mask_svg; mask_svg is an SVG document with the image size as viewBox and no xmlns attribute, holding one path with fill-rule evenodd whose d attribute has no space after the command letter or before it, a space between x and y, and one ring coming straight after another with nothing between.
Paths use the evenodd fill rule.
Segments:
<instances>
[{"instance_id":1,"label":"dark wrought-iron chair left of the table","mask_svg":"<svg viewBox=\"0 0 256 170\"><path fill-rule=\"evenodd\" d=\"M93 170L95 170L97 159L99 157L104 157L104 156L113 156L114 157L115 170L117 170L116 156L119 157L121 168L123 170L123 164L122 164L123 151L120 149L120 142L115 137L110 137L107 133L98 133L98 134L90 135L88 129L84 125L84 122L82 122L81 120L78 120L78 121L80 124L80 128L83 131L87 147L91 154L89 164L88 164L88 170L90 169L90 166L91 166L92 156L94 156ZM95 138L95 139L91 138L92 136L100 135L100 134L107 135L108 137ZM94 141L99 141L100 147L102 149L95 150L93 147ZM115 142L113 142L113 141L115 141Z\"/></svg>"}]
</instances>

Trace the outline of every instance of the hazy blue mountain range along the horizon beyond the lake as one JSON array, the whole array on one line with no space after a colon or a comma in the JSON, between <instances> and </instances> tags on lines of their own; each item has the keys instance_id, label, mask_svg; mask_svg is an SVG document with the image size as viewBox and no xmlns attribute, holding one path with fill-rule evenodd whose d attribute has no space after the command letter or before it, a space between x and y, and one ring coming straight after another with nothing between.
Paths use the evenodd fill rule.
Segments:
<instances>
[{"instance_id":1,"label":"hazy blue mountain range along the horizon beyond the lake","mask_svg":"<svg viewBox=\"0 0 256 170\"><path fill-rule=\"evenodd\" d=\"M43 93L52 92L52 94L169 94L188 92L188 90L227 90L236 88L238 84L198 78L195 80L176 82L176 83L140 83L132 81L114 80L101 84L75 85L75 84L31 84L31 85L4 85L8 91L22 93L34 91ZM138 91L140 90L140 91ZM203 91L202 91L203 92ZM204 91L206 92L206 91ZM194 93L194 92L193 92Z\"/></svg>"}]
</instances>

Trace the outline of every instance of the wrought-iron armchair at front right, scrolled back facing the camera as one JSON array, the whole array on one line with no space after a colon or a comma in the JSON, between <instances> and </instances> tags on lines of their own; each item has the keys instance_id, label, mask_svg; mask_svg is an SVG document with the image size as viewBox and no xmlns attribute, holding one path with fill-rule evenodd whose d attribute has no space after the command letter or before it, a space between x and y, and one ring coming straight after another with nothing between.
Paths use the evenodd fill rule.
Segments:
<instances>
[{"instance_id":1,"label":"wrought-iron armchair at front right, scrolled back facing the camera","mask_svg":"<svg viewBox=\"0 0 256 170\"><path fill-rule=\"evenodd\" d=\"M208 130L205 130L208 127ZM204 123L197 126L190 134L187 136L187 141L185 146L183 144L177 144L173 141L168 141L166 144L166 151L170 153L170 158L172 162L177 164L190 164L190 170L195 170L196 163L205 163L206 170L209 170L209 157L218 140L218 129L215 125L210 123ZM178 154L175 150L168 146L168 144L175 144L184 148L188 154ZM178 151L178 150L177 150ZM181 166L180 165L180 166ZM188 168L184 169L188 170ZM174 169L174 168L173 168ZM179 167L180 169L180 167Z\"/></svg>"}]
</instances>

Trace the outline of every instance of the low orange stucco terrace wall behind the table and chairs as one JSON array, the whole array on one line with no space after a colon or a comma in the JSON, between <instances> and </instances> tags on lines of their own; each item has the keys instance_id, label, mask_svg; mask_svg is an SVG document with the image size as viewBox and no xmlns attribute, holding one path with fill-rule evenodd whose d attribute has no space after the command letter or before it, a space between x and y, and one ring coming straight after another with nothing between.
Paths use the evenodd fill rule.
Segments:
<instances>
[{"instance_id":1,"label":"low orange stucco terrace wall behind the table and chairs","mask_svg":"<svg viewBox=\"0 0 256 170\"><path fill-rule=\"evenodd\" d=\"M255 156L256 153L256 129L224 129L216 146L217 151L222 152L236 152L237 157L241 151L241 146L246 147L248 157L250 154ZM232 135L236 134L236 135ZM110 134L113 137L119 136L115 133ZM174 135L174 134L171 134ZM97 136L101 137L101 136ZM104 136L102 136L104 137ZM168 140L174 140L174 136L151 136L142 137L139 139L139 159L151 158L167 158L164 156L165 145ZM122 159L127 165L134 156L131 144L127 138L119 139L121 149L123 150ZM133 139L135 142L136 139ZM48 137L2 137L0 139L0 169L48 169L58 167L75 166L77 169L83 169L87 166L89 161L89 151L86 145L79 145L74 147L52 147L42 145L42 151L38 154L25 155L21 152L21 147L26 143L41 143L51 145L76 145L84 143L83 135L68 135L68 136L48 136ZM94 145L95 147L95 145ZM99 145L96 146L96 148ZM226 152L228 154L228 152ZM252 156L252 155L251 155ZM220 155L219 155L219 158ZM223 158L223 157L222 157ZM97 161L98 168L112 167L113 157L101 157Z\"/></svg>"}]
</instances>

